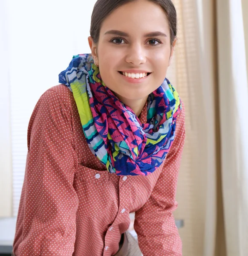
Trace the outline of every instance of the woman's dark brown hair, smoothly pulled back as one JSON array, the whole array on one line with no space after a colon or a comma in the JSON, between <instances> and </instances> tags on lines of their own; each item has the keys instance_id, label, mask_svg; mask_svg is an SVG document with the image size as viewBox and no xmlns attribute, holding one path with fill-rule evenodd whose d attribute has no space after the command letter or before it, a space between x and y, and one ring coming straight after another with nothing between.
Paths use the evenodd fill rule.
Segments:
<instances>
[{"instance_id":1,"label":"woman's dark brown hair, smoothly pulled back","mask_svg":"<svg viewBox=\"0 0 248 256\"><path fill-rule=\"evenodd\" d=\"M90 25L90 35L94 40L94 43L97 44L100 35L101 24L104 19L107 18L115 9L119 6L124 5L125 3L133 2L135 0L98 0L95 3L92 16L91 16L91 25ZM171 0L148 0L153 3L160 5L166 15L170 25L170 44L172 46L174 39L177 34L177 16L176 9Z\"/></svg>"}]
</instances>

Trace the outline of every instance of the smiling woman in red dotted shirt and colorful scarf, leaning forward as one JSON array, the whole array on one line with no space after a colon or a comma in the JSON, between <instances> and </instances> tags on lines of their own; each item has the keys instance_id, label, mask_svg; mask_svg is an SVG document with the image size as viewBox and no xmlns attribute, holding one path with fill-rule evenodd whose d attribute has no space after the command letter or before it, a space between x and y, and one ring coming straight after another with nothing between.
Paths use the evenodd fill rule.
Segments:
<instances>
[{"instance_id":1,"label":"smiling woman in red dotted shirt and colorful scarf, leaning forward","mask_svg":"<svg viewBox=\"0 0 248 256\"><path fill-rule=\"evenodd\" d=\"M164 79L176 26L170 0L96 2L91 54L74 56L29 122L13 255L182 255L185 114Z\"/></svg>"}]
</instances>

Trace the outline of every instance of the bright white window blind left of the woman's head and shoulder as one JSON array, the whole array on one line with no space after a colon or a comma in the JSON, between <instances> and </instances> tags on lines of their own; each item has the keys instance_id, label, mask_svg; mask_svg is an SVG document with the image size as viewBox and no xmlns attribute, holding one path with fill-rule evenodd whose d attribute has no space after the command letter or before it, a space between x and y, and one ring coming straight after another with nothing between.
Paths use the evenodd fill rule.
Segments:
<instances>
[{"instance_id":1,"label":"bright white window blind left of the woman's head and shoulder","mask_svg":"<svg viewBox=\"0 0 248 256\"><path fill-rule=\"evenodd\" d=\"M58 84L58 74L78 53L90 52L95 0L9 0L9 48L13 161L13 214L25 173L27 128L39 97Z\"/></svg>"}]
</instances>

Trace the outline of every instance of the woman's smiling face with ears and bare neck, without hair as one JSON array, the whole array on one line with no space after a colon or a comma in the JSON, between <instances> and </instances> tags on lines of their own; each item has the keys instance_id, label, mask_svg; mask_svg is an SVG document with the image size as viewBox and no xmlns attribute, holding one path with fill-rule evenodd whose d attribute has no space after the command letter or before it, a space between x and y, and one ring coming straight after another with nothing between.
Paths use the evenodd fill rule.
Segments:
<instances>
[{"instance_id":1,"label":"woman's smiling face with ears and bare neck, without hair","mask_svg":"<svg viewBox=\"0 0 248 256\"><path fill-rule=\"evenodd\" d=\"M102 23L98 45L91 37L89 45L102 80L130 108L144 106L162 84L174 48L164 10L147 0L118 7Z\"/></svg>"}]
</instances>

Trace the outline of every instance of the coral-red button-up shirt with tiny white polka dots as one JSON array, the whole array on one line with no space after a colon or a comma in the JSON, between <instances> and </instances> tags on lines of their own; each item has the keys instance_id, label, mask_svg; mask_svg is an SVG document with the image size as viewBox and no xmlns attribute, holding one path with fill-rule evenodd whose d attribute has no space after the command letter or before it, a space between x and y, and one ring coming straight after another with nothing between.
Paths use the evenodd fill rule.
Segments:
<instances>
[{"instance_id":1,"label":"coral-red button-up shirt with tiny white polka dots","mask_svg":"<svg viewBox=\"0 0 248 256\"><path fill-rule=\"evenodd\" d=\"M159 169L144 177L110 174L89 150L72 93L61 84L47 90L29 122L14 255L114 255L130 212L144 256L182 255L172 212L184 140L183 105Z\"/></svg>"}]
</instances>

